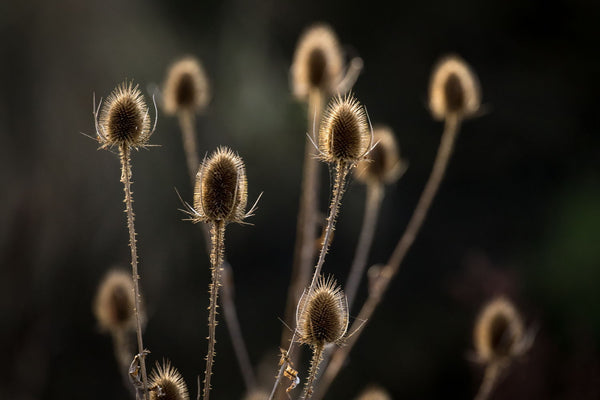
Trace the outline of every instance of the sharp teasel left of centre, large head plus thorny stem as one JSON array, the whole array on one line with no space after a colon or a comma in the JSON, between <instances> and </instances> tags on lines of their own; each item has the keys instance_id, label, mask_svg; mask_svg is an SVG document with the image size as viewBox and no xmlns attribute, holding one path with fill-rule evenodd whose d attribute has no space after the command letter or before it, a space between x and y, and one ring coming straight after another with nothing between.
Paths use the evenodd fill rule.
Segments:
<instances>
[{"instance_id":1,"label":"sharp teasel left of centre, large head plus thorny stem","mask_svg":"<svg viewBox=\"0 0 600 400\"><path fill-rule=\"evenodd\" d=\"M260 196L259 196L260 199ZM217 298L221 285L221 272L225 248L225 226L228 223L244 224L256 210L258 200L246 212L248 183L244 162L231 149L219 147L200 164L196 175L194 206L184 202L185 213L193 223L210 225L212 248L210 253L212 282L209 285L208 353L204 376L203 398L210 394L210 381L215 356Z\"/></svg>"}]
</instances>

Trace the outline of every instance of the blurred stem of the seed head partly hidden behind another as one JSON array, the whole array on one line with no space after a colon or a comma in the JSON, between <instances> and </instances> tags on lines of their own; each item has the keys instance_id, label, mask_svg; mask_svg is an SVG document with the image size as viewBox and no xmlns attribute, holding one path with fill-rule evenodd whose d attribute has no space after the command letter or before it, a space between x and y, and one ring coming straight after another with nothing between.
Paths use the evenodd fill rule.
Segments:
<instances>
[{"instance_id":1,"label":"blurred stem of the seed head partly hidden behind another","mask_svg":"<svg viewBox=\"0 0 600 400\"><path fill-rule=\"evenodd\" d=\"M362 228L354 254L354 261L350 267L350 274L346 282L344 293L348 298L348 309L352 309L352 303L356 297L358 286L365 272L369 250L373 244L375 227L377 226L377 217L381 209L384 188L379 182L370 182L367 184L367 200L365 203L365 214L363 217Z\"/></svg>"}]
</instances>

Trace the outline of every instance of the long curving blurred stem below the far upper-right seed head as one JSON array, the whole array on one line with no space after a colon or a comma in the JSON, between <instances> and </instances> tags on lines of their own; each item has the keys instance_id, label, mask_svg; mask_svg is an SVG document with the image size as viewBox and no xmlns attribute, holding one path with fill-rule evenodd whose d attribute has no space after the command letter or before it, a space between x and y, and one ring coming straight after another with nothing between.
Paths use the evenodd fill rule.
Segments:
<instances>
[{"instance_id":1,"label":"long curving blurred stem below the far upper-right seed head","mask_svg":"<svg viewBox=\"0 0 600 400\"><path fill-rule=\"evenodd\" d=\"M338 347L333 353L331 362L323 373L322 381L319 383L319 387L315 393L315 399L321 399L327 392L327 389L329 389L329 386L344 365L344 361L348 357L348 354L350 354L350 351L358 341L366 323L373 315L377 305L381 302L392 278L400 269L402 260L404 260L404 257L419 233L419 230L425 221L425 217L427 216L427 211L429 210L444 177L459 128L460 118L457 115L449 115L445 120L444 133L442 134L440 147L438 148L431 175L429 175L429 179L425 185L425 189L421 193L415 211L408 222L404 234L388 260L387 265L383 267L379 278L377 278L373 288L369 291L369 296L363 304L360 313L356 317L352 327L349 329L349 332L352 332L352 334L348 337L345 346Z\"/></svg>"}]
</instances>

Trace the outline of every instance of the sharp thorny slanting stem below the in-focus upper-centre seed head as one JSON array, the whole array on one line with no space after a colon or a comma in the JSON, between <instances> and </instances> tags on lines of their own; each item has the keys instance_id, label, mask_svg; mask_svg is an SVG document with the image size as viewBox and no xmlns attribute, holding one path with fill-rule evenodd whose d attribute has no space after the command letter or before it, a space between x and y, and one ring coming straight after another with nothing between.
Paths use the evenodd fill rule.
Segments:
<instances>
[{"instance_id":1,"label":"sharp thorny slanting stem below the in-focus upper-centre seed head","mask_svg":"<svg viewBox=\"0 0 600 400\"><path fill-rule=\"evenodd\" d=\"M321 268L323 267L323 264L325 262L325 255L327 254L327 250L329 250L329 245L331 242L331 235L335 229L335 220L336 220L339 208L340 208L342 195L344 193L344 183L346 180L346 176L348 175L348 171L350 171L352 166L353 166L352 164L348 164L348 163L344 163L344 162L338 162L337 165L335 166L335 181L334 181L334 186L333 186L333 198L331 200L331 205L329 206L329 216L327 217L327 227L325 228L325 238L323 239L323 245L322 245L321 251L319 253L319 261L317 262L317 265L315 266L315 272L313 274L311 284L306 293L307 298L310 298L310 295L311 295L312 291L314 290L314 287L319 279L319 276L321 276ZM305 307L306 307L306 305L305 305ZM304 310L300 310L299 314L302 314L303 312L304 312ZM294 347L296 345L296 334L297 334L297 329L294 329L294 334L292 335L292 339L290 341L290 345L289 345L287 353L286 353L288 355L288 357L291 357ZM287 362L283 362L281 365L281 368L279 368L279 372L277 373L277 379L275 380L275 384L273 385L273 390L271 391L269 400L273 399L273 396L275 395L275 391L277 390L277 387L279 386L279 383L281 382L281 378L283 377L283 371L285 371L285 368L287 367L287 365L288 365Z\"/></svg>"}]
</instances>

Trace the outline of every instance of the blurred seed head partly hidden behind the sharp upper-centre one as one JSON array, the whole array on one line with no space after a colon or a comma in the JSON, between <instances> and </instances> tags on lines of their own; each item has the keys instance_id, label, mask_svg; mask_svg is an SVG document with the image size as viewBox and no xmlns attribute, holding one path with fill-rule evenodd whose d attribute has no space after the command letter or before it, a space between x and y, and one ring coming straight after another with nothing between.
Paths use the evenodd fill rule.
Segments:
<instances>
[{"instance_id":1,"label":"blurred seed head partly hidden behind the sharp upper-centre one","mask_svg":"<svg viewBox=\"0 0 600 400\"><path fill-rule=\"evenodd\" d=\"M369 155L358 162L356 178L363 183L392 183L405 170L400 160L394 132L387 126L373 129L373 143L377 143Z\"/></svg>"}]
</instances>

